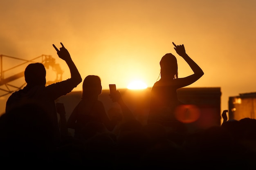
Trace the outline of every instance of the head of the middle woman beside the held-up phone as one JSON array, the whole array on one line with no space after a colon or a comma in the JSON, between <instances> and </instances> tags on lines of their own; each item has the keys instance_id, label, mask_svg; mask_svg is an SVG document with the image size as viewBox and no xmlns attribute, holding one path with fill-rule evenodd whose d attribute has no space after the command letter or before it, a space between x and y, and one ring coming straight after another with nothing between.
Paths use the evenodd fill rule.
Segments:
<instances>
[{"instance_id":1,"label":"head of the middle woman beside the held-up phone","mask_svg":"<svg viewBox=\"0 0 256 170\"><path fill-rule=\"evenodd\" d=\"M101 78L97 75L88 75L83 80L83 95L86 98L92 95L100 95L102 91Z\"/></svg>"}]
</instances>

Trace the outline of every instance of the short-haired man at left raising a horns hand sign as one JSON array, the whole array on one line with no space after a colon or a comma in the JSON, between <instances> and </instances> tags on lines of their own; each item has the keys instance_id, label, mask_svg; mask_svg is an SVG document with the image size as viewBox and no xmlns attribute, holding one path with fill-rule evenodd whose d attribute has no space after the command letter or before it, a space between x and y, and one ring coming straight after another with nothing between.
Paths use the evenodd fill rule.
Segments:
<instances>
[{"instance_id":1,"label":"short-haired man at left raising a horns hand sign","mask_svg":"<svg viewBox=\"0 0 256 170\"><path fill-rule=\"evenodd\" d=\"M11 110L24 104L34 104L44 108L54 127L53 131L55 132L56 144L59 142L60 132L54 101L58 99L58 97L70 93L72 89L82 81L81 75L70 57L70 53L65 49L62 43L61 45L62 47L58 50L53 44L58 56L63 59L70 68L71 78L45 86L45 66L42 63L29 64L25 69L25 81L27 82L27 86L11 94L6 102L6 114L9 114Z\"/></svg>"}]
</instances>

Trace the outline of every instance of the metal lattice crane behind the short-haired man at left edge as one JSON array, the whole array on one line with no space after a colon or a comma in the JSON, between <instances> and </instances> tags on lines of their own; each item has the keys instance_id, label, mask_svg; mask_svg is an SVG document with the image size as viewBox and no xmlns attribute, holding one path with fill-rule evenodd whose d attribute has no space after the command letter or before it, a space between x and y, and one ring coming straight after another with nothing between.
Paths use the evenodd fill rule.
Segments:
<instances>
[{"instance_id":1,"label":"metal lattice crane behind the short-haired man at left edge","mask_svg":"<svg viewBox=\"0 0 256 170\"><path fill-rule=\"evenodd\" d=\"M4 65L3 59L5 57L15 59L15 60L21 60L24 62L21 64L18 64L16 66L13 66L11 68L3 70L3 65ZM21 66L24 66L25 64L38 62L36 60L40 59L40 58L41 58L40 62L45 66L45 68L49 69L51 67L52 70L54 72L56 72L56 79L53 81L47 81L46 86L49 84L52 84L52 83L62 81L62 74L64 71L61 69L60 65L58 63L56 63L55 58L53 58L51 55L40 55L31 60L25 60L22 58L11 57L11 56L7 56L7 55L0 55L0 97L2 97L4 95L8 95L10 93L13 93L14 91L21 89L26 84L26 82L24 81L24 83L22 83L20 86L17 86L17 84L13 85L13 82L15 80L17 80L21 77L24 77L24 70L21 72L15 73L15 74L8 75L8 76L5 76L4 75L5 73L7 73L8 71L10 72L11 70L17 69Z\"/></svg>"}]
</instances>

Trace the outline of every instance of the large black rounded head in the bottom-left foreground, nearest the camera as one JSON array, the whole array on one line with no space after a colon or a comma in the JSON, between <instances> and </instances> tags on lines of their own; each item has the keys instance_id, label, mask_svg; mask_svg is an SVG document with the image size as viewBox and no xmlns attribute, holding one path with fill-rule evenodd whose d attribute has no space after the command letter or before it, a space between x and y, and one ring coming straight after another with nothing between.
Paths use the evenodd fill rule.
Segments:
<instances>
[{"instance_id":1,"label":"large black rounded head in the bottom-left foreground, nearest the camera","mask_svg":"<svg viewBox=\"0 0 256 170\"><path fill-rule=\"evenodd\" d=\"M17 106L1 116L0 124L2 165L52 162L56 134L45 108L34 103Z\"/></svg>"}]
</instances>

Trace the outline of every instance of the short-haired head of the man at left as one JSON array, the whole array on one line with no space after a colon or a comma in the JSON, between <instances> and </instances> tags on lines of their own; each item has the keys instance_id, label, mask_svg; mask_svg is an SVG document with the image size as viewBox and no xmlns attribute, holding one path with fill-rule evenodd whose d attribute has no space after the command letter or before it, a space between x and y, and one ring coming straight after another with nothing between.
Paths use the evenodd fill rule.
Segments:
<instances>
[{"instance_id":1,"label":"short-haired head of the man at left","mask_svg":"<svg viewBox=\"0 0 256 170\"><path fill-rule=\"evenodd\" d=\"M25 81L29 86L45 85L46 71L42 63L31 63L25 69Z\"/></svg>"}]
</instances>

